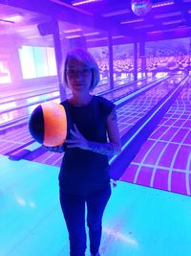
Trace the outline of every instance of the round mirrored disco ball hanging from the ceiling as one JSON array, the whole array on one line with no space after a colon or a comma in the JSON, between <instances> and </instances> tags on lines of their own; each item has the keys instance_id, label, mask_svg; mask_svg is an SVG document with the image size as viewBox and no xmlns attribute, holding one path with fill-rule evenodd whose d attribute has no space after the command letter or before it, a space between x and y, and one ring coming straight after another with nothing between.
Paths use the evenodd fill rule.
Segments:
<instances>
[{"instance_id":1,"label":"round mirrored disco ball hanging from the ceiling","mask_svg":"<svg viewBox=\"0 0 191 256\"><path fill-rule=\"evenodd\" d=\"M150 0L132 0L131 8L137 16L144 16L151 11L152 4Z\"/></svg>"}]
</instances>

